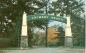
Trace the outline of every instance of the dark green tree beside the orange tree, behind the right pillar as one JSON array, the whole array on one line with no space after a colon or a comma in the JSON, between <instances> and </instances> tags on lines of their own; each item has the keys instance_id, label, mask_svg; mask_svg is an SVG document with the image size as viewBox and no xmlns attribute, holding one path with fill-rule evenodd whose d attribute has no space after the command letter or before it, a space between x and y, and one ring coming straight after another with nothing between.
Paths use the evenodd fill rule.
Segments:
<instances>
[{"instance_id":1,"label":"dark green tree beside the orange tree, behind the right pillar","mask_svg":"<svg viewBox=\"0 0 86 53\"><path fill-rule=\"evenodd\" d=\"M65 38L65 31L62 26L54 25L51 26L53 28L57 29L57 32L59 32L57 39L59 39L59 42L57 42L57 46L63 46L64 45L64 38Z\"/></svg>"}]
</instances>

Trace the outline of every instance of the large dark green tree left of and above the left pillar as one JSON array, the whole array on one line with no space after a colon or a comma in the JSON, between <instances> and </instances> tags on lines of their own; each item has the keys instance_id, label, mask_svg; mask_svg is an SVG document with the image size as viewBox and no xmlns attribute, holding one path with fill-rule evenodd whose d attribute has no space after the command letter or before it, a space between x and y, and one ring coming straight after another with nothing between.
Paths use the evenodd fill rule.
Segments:
<instances>
[{"instance_id":1,"label":"large dark green tree left of and above the left pillar","mask_svg":"<svg viewBox=\"0 0 86 53\"><path fill-rule=\"evenodd\" d=\"M18 40L21 34L23 12L26 12L28 15L34 15L43 6L43 2L39 0L0 0L0 32L2 33L5 29L6 35L10 34L13 37L13 34L15 34L16 46L19 46L18 43L20 41ZM9 20L11 20L10 23ZM6 26L3 23L7 23Z\"/></svg>"}]
</instances>

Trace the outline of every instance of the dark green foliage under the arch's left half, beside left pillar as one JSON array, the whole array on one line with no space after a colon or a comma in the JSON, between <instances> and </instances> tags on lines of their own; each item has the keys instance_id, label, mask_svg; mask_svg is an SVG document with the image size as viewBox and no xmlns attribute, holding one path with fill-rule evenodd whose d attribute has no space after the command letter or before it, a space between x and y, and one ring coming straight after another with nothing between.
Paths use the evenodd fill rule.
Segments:
<instances>
[{"instance_id":1,"label":"dark green foliage under the arch's left half, beside left pillar","mask_svg":"<svg viewBox=\"0 0 86 53\"><path fill-rule=\"evenodd\" d=\"M48 19L45 18L45 19L36 19L36 20L28 21L29 39L33 38L32 35L31 35L31 32L32 32L33 28L40 28L40 29L46 30L46 24L48 23L48 22L46 22L47 20ZM31 43L31 40L29 41L29 43ZM29 44L29 45L32 46L31 44Z\"/></svg>"}]
</instances>

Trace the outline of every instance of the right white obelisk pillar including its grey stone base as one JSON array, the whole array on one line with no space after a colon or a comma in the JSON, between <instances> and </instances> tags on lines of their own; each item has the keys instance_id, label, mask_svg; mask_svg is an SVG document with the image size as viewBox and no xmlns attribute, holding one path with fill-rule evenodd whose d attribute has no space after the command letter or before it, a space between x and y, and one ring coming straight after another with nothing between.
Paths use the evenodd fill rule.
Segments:
<instances>
[{"instance_id":1,"label":"right white obelisk pillar including its grey stone base","mask_svg":"<svg viewBox=\"0 0 86 53\"><path fill-rule=\"evenodd\" d=\"M73 46L70 16L67 17L67 25L65 29L65 46Z\"/></svg>"}]
</instances>

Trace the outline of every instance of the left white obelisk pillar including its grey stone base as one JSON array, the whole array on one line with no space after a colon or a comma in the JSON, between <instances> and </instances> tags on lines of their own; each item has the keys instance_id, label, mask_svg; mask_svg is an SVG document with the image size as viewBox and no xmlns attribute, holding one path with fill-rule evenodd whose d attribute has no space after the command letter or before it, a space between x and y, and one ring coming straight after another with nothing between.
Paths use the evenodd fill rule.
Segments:
<instances>
[{"instance_id":1,"label":"left white obelisk pillar including its grey stone base","mask_svg":"<svg viewBox=\"0 0 86 53\"><path fill-rule=\"evenodd\" d=\"M23 20L22 20L22 31L21 31L21 48L27 48L28 47L28 34L27 34L27 15L24 12L23 14Z\"/></svg>"}]
</instances>

